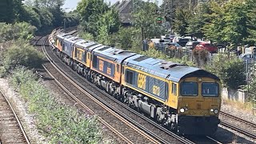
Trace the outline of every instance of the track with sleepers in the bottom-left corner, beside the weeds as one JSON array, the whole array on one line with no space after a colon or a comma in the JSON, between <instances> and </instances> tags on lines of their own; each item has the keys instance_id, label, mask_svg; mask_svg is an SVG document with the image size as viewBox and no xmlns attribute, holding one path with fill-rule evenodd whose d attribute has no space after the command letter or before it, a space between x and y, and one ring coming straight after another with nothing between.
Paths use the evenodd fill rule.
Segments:
<instances>
[{"instance_id":1,"label":"track with sleepers in the bottom-left corner, beside the weeds","mask_svg":"<svg viewBox=\"0 0 256 144\"><path fill-rule=\"evenodd\" d=\"M0 143L30 143L14 108L0 90Z\"/></svg>"}]
</instances>

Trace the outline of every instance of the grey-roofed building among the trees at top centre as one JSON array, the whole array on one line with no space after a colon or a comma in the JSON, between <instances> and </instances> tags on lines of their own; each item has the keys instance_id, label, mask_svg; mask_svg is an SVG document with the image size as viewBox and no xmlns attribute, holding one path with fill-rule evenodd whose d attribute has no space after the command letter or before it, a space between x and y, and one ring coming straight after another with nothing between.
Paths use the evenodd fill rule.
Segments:
<instances>
[{"instance_id":1,"label":"grey-roofed building among the trees at top centre","mask_svg":"<svg viewBox=\"0 0 256 144\"><path fill-rule=\"evenodd\" d=\"M133 0L122 0L114 3L114 8L118 10L122 26L131 26L131 12L133 11Z\"/></svg>"}]
</instances>

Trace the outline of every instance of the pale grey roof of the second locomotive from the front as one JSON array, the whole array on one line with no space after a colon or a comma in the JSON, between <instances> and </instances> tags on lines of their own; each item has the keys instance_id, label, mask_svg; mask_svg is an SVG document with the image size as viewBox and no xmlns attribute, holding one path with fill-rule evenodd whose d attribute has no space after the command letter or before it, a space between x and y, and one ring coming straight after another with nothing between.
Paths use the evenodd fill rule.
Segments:
<instances>
[{"instance_id":1,"label":"pale grey roof of the second locomotive from the front","mask_svg":"<svg viewBox=\"0 0 256 144\"><path fill-rule=\"evenodd\" d=\"M132 51L121 50L110 46L98 47L94 49L94 54L119 63L122 62L123 59L135 55Z\"/></svg>"}]
</instances>

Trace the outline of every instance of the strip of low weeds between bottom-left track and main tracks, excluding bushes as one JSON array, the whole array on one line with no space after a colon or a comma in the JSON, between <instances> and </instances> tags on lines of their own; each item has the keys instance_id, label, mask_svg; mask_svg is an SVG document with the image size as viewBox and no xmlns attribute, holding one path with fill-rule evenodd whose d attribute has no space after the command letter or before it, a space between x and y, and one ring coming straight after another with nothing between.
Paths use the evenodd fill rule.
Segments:
<instances>
[{"instance_id":1,"label":"strip of low weeds between bottom-left track and main tracks, excluding bushes","mask_svg":"<svg viewBox=\"0 0 256 144\"><path fill-rule=\"evenodd\" d=\"M50 143L99 143L102 132L97 118L80 114L63 106L50 95L30 70L18 67L10 75L10 83L28 102L29 111L35 115L38 130ZM105 143L105 142L103 142Z\"/></svg>"}]
</instances>

